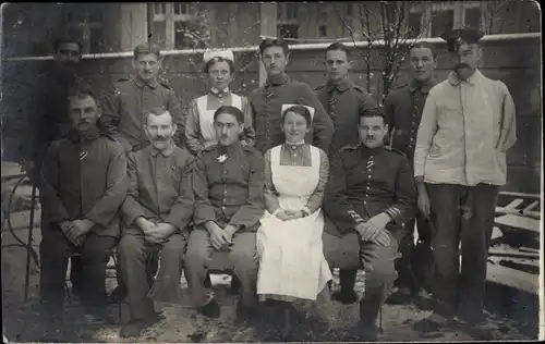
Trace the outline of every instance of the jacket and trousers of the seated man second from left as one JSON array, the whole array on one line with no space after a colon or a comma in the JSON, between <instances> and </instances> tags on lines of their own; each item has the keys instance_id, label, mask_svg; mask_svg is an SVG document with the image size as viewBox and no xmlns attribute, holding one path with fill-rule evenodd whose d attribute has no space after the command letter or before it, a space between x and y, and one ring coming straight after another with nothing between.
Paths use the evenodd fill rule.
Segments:
<instances>
[{"instance_id":1,"label":"jacket and trousers of the seated man second from left","mask_svg":"<svg viewBox=\"0 0 545 344\"><path fill-rule=\"evenodd\" d=\"M131 319L144 319L152 299L177 300L186 247L187 225L193 217L193 156L172 145L159 151L152 145L129 155L130 187L122 206L126 228L119 244L119 268L129 294ZM166 243L148 245L134 223L138 217L175 226ZM160 268L149 291L146 260L160 250ZM149 292L149 293L148 293ZM150 298L148 298L148 296Z\"/></svg>"}]
</instances>

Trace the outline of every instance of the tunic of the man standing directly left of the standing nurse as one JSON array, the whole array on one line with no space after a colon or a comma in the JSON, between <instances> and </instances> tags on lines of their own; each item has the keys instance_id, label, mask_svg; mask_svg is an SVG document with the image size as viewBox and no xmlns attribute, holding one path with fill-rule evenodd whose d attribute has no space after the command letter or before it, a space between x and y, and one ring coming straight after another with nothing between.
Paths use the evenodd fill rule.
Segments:
<instances>
[{"instance_id":1,"label":"tunic of the man standing directly left of the standing nurse","mask_svg":"<svg viewBox=\"0 0 545 344\"><path fill-rule=\"evenodd\" d=\"M114 84L104 103L102 123L123 145L126 151L147 146L144 132L145 113L154 108L166 108L178 125L174 143L184 143L185 119L174 91L165 83L154 81L145 84L138 77L122 78Z\"/></svg>"}]
</instances>

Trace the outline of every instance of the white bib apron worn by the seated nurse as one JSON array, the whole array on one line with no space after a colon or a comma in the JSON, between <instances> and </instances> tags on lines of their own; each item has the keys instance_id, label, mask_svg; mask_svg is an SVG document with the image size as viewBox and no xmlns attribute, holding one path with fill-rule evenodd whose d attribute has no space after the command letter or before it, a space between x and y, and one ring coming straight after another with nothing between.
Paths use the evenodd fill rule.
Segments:
<instances>
[{"instance_id":1,"label":"white bib apron worn by the seated nurse","mask_svg":"<svg viewBox=\"0 0 545 344\"><path fill-rule=\"evenodd\" d=\"M270 151L272 184L286 210L301 210L319 182L319 149L311 146L312 167L280 165L280 148ZM322 210L308 217L281 221L265 211L257 230L259 272L257 294L274 294L315 300L331 280L324 258Z\"/></svg>"}]
</instances>

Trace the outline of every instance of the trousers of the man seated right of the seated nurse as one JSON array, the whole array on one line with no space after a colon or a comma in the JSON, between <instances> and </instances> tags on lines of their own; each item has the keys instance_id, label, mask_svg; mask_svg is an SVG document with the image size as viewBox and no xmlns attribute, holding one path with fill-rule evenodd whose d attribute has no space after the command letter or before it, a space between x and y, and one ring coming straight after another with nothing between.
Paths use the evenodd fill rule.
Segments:
<instances>
[{"instance_id":1,"label":"trousers of the man seated right of the seated nurse","mask_svg":"<svg viewBox=\"0 0 545 344\"><path fill-rule=\"evenodd\" d=\"M375 323L378 311L397 278L395 259L398 251L397 237L399 237L399 233L396 234L393 236L390 233L391 243L388 247L371 242L361 243L360 236L355 232L347 233L341 237L327 232L322 235L324 256L330 267L343 268L340 271L358 271L355 269L359 268L365 270L365 293L360 300L360 322L362 324ZM355 263L352 266L354 270L349 269L350 263ZM352 279L352 274L350 274L350 279ZM353 280L355 281L355 277Z\"/></svg>"}]
</instances>

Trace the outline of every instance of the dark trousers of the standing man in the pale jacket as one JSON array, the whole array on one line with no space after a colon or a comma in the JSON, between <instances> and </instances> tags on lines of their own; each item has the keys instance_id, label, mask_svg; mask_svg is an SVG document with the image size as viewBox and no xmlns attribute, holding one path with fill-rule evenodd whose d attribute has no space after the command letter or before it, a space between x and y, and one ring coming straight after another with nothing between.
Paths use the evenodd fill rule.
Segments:
<instances>
[{"instance_id":1,"label":"dark trousers of the standing man in the pale jacket","mask_svg":"<svg viewBox=\"0 0 545 344\"><path fill-rule=\"evenodd\" d=\"M433 293L438 311L481 314L486 263L499 187L426 184L432 222L435 273ZM461 243L461 269L459 244Z\"/></svg>"}]
</instances>

